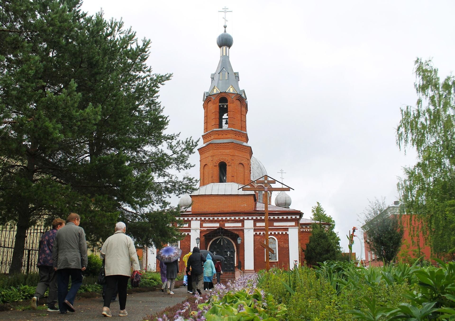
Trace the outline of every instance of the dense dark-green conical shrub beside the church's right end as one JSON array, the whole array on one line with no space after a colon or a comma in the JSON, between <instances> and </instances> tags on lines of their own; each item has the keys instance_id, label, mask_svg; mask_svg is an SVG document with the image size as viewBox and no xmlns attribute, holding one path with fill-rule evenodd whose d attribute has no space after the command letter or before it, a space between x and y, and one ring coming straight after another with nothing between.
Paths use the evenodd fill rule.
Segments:
<instances>
[{"instance_id":1,"label":"dense dark-green conical shrub beside the church's right end","mask_svg":"<svg viewBox=\"0 0 455 321\"><path fill-rule=\"evenodd\" d=\"M330 239L328 231L323 225L312 224L312 232L309 242L305 248L305 260L309 265L316 265L317 262L337 260L340 257L339 247Z\"/></svg>"}]
</instances>

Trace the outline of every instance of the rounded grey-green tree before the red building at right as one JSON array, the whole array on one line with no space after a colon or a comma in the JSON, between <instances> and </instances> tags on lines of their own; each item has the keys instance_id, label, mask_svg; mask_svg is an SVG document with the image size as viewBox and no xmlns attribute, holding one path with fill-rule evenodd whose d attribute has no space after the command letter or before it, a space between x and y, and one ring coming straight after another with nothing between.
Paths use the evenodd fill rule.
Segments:
<instances>
[{"instance_id":1,"label":"rounded grey-green tree before the red building at right","mask_svg":"<svg viewBox=\"0 0 455 321\"><path fill-rule=\"evenodd\" d=\"M399 222L398 208L387 207L385 198L374 198L374 201L369 201L362 217L365 243L378 260L392 262L403 242L404 230Z\"/></svg>"}]
</instances>

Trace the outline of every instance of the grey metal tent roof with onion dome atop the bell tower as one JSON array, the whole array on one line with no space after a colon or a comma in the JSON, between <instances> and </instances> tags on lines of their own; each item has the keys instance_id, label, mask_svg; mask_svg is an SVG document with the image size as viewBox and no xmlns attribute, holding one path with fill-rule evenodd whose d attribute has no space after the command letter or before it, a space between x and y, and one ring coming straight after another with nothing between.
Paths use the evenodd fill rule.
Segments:
<instances>
[{"instance_id":1,"label":"grey metal tent roof with onion dome atop the bell tower","mask_svg":"<svg viewBox=\"0 0 455 321\"><path fill-rule=\"evenodd\" d=\"M220 92L240 94L243 98L247 99L245 91L240 90L238 86L238 73L234 72L231 62L229 61L229 48L232 46L233 42L232 36L226 33L225 27L224 32L217 38L217 44L221 50L220 61L215 73L211 74L210 78L212 79L212 82L210 84L210 89L204 93L202 100L205 100L209 95L219 94Z\"/></svg>"}]
</instances>

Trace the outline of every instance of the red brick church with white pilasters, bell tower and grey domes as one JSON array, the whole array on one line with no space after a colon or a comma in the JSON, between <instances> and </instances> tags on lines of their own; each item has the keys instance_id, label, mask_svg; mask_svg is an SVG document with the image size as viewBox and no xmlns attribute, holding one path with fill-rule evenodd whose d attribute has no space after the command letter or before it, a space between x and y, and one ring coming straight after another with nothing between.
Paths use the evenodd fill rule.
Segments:
<instances>
[{"instance_id":1,"label":"red brick church with white pilasters, bell tower and grey domes","mask_svg":"<svg viewBox=\"0 0 455 321\"><path fill-rule=\"evenodd\" d=\"M263 193L243 191L244 185L267 175L263 164L253 156L248 144L248 103L245 90L239 87L239 73L229 61L233 37L226 32L217 37L220 60L211 85L203 94L203 134L200 155L200 186L190 195L183 195L180 227L183 253L193 247L209 250L225 258L224 278L238 273L258 272L266 267L293 267L302 262L302 248L311 234L315 221L303 219L303 212L291 209L291 198L278 193L275 205L268 202L268 243L274 253L266 253ZM265 119L264 119L265 120ZM328 227L328 226L327 226ZM156 249L150 248L143 260L147 269L155 270ZM183 262L181 271L183 271ZM237 273L237 275L238 275Z\"/></svg>"}]
</instances>

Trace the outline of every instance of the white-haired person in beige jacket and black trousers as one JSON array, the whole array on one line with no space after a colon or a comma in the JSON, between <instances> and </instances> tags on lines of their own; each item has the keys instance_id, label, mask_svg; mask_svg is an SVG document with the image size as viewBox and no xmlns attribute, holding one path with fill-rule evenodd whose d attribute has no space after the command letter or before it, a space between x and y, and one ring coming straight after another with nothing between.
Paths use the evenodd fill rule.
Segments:
<instances>
[{"instance_id":1,"label":"white-haired person in beige jacket and black trousers","mask_svg":"<svg viewBox=\"0 0 455 321\"><path fill-rule=\"evenodd\" d=\"M102 315L111 315L111 296L118 288L118 301L120 304L119 316L127 316L126 306L126 286L131 277L131 264L133 271L140 271L139 260L137 259L136 248L131 237L125 234L126 225L118 222L115 226L115 233L107 238L101 247L101 257L104 258L104 271L106 273L106 294L104 296L104 306Z\"/></svg>"}]
</instances>

